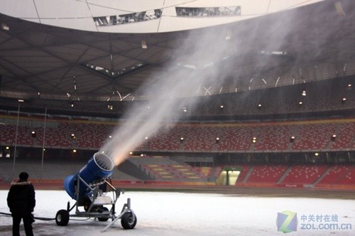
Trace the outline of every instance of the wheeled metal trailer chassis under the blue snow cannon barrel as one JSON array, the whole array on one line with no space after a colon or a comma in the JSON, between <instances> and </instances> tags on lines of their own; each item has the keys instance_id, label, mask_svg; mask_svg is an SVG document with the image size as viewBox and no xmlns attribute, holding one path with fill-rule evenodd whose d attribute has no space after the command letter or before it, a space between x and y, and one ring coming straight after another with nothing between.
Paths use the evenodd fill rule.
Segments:
<instances>
[{"instance_id":1,"label":"wheeled metal trailer chassis under the blue snow cannon barrel","mask_svg":"<svg viewBox=\"0 0 355 236\"><path fill-rule=\"evenodd\" d=\"M80 181L87 186L88 190L90 190L89 196L79 196ZM110 192L112 193L113 198L107 196L107 193L109 192L104 193L102 189L99 189L99 186L102 184L107 184L107 186L111 188ZM114 188L114 186L112 186L107 179L102 179L98 183L87 184L87 182L85 182L80 175L78 175L77 185L75 187L76 203L72 206L72 208L70 208L70 202L68 201L67 210L58 210L55 215L55 223L60 226L66 226L70 217L97 218L99 221L107 221L112 219L111 223L109 223L109 225L104 227L102 230L102 232L104 232L108 227L114 225L117 220L121 219L121 225L124 229L133 229L136 226L137 218L131 209L131 198L127 198L127 203L125 203L122 207L121 213L116 215L115 205L121 193L124 193L124 190ZM111 205L111 209L105 207L109 205ZM80 211L80 206L84 207L84 211ZM74 208L75 213L70 214L70 211Z\"/></svg>"}]
</instances>

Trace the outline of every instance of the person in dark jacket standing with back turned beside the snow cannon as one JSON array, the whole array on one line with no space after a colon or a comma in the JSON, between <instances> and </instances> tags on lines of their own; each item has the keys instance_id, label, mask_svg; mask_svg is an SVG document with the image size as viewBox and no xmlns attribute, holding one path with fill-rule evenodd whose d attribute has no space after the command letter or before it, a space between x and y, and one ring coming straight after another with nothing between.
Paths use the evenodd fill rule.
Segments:
<instances>
[{"instance_id":1,"label":"person in dark jacket standing with back turned beside the snow cannon","mask_svg":"<svg viewBox=\"0 0 355 236\"><path fill-rule=\"evenodd\" d=\"M23 220L23 226L27 236L33 236L32 223L33 209L35 208L35 189L30 181L27 181L28 174L21 172L20 179L11 183L11 188L7 196L7 205L12 215L12 234L20 235L20 223Z\"/></svg>"}]
</instances>

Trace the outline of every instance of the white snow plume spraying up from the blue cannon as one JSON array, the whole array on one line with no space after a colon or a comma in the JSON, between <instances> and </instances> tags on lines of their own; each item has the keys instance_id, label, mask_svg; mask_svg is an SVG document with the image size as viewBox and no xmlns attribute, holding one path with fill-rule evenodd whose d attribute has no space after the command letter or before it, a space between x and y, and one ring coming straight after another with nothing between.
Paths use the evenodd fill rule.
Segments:
<instances>
[{"instance_id":1,"label":"white snow plume spraying up from the blue cannon","mask_svg":"<svg viewBox=\"0 0 355 236\"><path fill-rule=\"evenodd\" d=\"M165 123L180 120L184 115L183 108L192 111L202 96L209 96L211 91L221 92L226 78L244 76L241 73L245 71L239 70L234 60L240 62L241 57L260 51L260 48L255 48L254 38L256 34L260 35L261 30L258 26L246 27L241 24L234 25L232 30L224 26L188 33L181 40L180 47L172 53L170 62L163 71L154 78L147 78L150 82L144 87L148 89L142 95L150 99L136 102L136 105L126 111L126 121L119 124L112 138L100 151L109 154L116 165L121 164L129 157L129 152L141 145L146 137L153 137L162 130ZM280 28L273 26L271 30L277 31ZM284 28L281 30L287 35ZM273 45L278 48L280 44L280 41L263 42L263 46L270 48L274 48ZM264 64L265 62L261 62L256 67L263 67ZM190 98L181 99L182 97Z\"/></svg>"}]
</instances>

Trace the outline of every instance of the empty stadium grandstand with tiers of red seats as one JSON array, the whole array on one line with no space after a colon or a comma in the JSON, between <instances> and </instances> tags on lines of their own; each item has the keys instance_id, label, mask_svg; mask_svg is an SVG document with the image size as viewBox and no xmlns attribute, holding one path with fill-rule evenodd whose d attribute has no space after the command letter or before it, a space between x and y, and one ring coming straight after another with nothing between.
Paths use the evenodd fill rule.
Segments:
<instances>
[{"instance_id":1,"label":"empty stadium grandstand with tiers of red seats","mask_svg":"<svg viewBox=\"0 0 355 236\"><path fill-rule=\"evenodd\" d=\"M289 89L292 91L297 86ZM344 93L341 89L333 93L337 91ZM256 93L258 91L249 96ZM233 99L237 99L234 96L225 101L225 107L233 106ZM322 101L327 102L320 99L320 106L327 107ZM263 104L273 106L272 98L271 101L263 99ZM2 110L0 115L3 134L0 161L7 166L7 171L1 173L3 181L11 180L14 143L17 144L16 169L28 169L35 173L36 179L60 183L65 174L78 168L73 163L84 163L121 125L114 118L104 118L104 114L101 118L45 115L28 112L27 106L31 104L24 103L24 111L18 113L19 116L9 110ZM288 106L283 108L276 115L288 113L290 118L275 118L275 114L264 112L255 114L252 120L250 114L233 120L236 114L200 113L197 116L194 113L192 120L165 123L160 133L141 137L142 144L118 167L114 179L141 184L211 185L225 167L232 166L241 171L236 186L353 188L355 120L349 112L354 113L354 110L329 108L300 113ZM261 112L257 106L249 111ZM53 112L57 111L53 109ZM60 168L62 172L48 172L55 169L55 164L64 163L68 165Z\"/></svg>"}]
</instances>

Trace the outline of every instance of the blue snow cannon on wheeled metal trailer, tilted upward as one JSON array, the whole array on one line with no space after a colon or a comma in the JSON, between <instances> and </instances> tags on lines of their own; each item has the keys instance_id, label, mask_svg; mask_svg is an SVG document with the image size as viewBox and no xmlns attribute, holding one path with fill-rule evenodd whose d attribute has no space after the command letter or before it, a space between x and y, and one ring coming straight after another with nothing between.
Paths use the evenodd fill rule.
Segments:
<instances>
[{"instance_id":1,"label":"blue snow cannon on wheeled metal trailer, tilted upward","mask_svg":"<svg viewBox=\"0 0 355 236\"><path fill-rule=\"evenodd\" d=\"M116 189L112 185L111 175L114 172L114 163L111 158L102 152L97 152L89 159L89 162L75 175L67 176L64 180L65 191L75 200L74 206L58 210L55 215L55 223L65 226L70 217L95 218L99 221L111 219L102 232L107 230L121 219L121 225L126 230L136 226L137 217L131 209L131 198L122 207L121 213L116 215L116 201L122 189ZM75 209L75 213L70 214Z\"/></svg>"}]
</instances>

